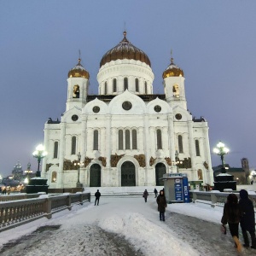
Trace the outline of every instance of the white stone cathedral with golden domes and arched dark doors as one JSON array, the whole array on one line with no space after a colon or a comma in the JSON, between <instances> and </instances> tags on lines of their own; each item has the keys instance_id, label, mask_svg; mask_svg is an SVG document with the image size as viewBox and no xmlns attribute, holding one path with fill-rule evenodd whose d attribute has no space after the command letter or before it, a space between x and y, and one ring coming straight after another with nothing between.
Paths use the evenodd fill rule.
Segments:
<instances>
[{"instance_id":1,"label":"white stone cathedral with golden domes and arched dark doors","mask_svg":"<svg viewBox=\"0 0 256 256\"><path fill-rule=\"evenodd\" d=\"M44 125L42 177L50 189L163 185L165 173L212 185L207 120L189 113L183 69L173 58L164 94L153 93L154 73L142 49L126 37L102 56L98 94L78 64L67 75L61 120Z\"/></svg>"}]
</instances>

